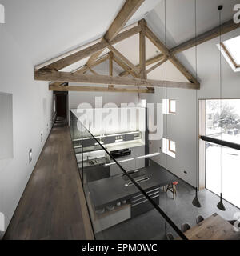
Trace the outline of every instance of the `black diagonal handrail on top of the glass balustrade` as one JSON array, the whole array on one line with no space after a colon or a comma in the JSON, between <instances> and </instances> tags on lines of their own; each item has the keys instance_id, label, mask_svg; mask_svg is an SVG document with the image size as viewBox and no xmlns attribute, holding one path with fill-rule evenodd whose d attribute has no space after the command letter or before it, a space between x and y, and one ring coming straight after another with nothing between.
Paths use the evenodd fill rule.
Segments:
<instances>
[{"instance_id":1,"label":"black diagonal handrail on top of the glass balustrade","mask_svg":"<svg viewBox=\"0 0 240 256\"><path fill-rule=\"evenodd\" d=\"M86 129L86 126L84 126L82 124L82 122L78 119L78 121L81 123L81 125ZM88 131L88 133L95 139L96 142L98 142L97 138L94 137L93 134L90 133L90 131L88 129L86 129ZM158 206L158 204L156 202L154 202L154 200L152 198L150 198L150 196L145 192L145 190L142 190L142 187L138 185L137 182L134 181L134 178L132 178L126 170L124 170L122 168L122 166L118 163L118 161L112 156L112 154L110 154L106 148L104 146L102 146L102 144L100 142L98 142L98 144L102 147L102 150L104 150L106 152L106 154L108 154L110 156L110 158L112 158L114 160L114 162L117 164L117 166L122 170L122 172L124 174L126 174L126 176L130 179L131 182L133 182L133 184L138 188L138 190L140 190L142 192L142 194L148 199L148 201L154 206L154 208L156 210L158 210L159 214L162 215L163 218L165 218L166 222L168 222L170 224L170 226L172 226L172 228L176 231L176 233L182 238L182 240L188 240L188 238L186 238L186 235L182 233L181 230L178 229L178 226L176 226L174 224L174 222L172 222L172 220L165 214L165 212ZM82 149L83 150L83 149Z\"/></svg>"}]
</instances>

